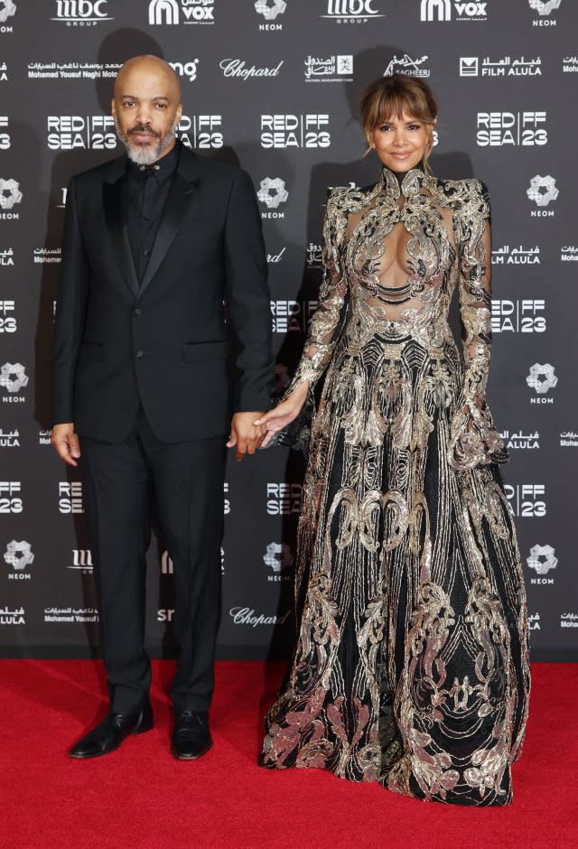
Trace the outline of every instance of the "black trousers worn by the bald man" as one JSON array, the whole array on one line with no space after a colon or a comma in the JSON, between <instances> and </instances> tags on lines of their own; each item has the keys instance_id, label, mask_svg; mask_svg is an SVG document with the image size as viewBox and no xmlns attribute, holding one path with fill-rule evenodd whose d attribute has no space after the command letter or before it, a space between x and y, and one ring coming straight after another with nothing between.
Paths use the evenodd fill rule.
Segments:
<instances>
[{"instance_id":1,"label":"black trousers worn by the bald man","mask_svg":"<svg viewBox=\"0 0 578 849\"><path fill-rule=\"evenodd\" d=\"M173 562L175 710L206 711L220 618L226 438L161 443L139 412L122 443L80 437L111 710L132 712L151 680L144 650L146 562L155 496Z\"/></svg>"}]
</instances>

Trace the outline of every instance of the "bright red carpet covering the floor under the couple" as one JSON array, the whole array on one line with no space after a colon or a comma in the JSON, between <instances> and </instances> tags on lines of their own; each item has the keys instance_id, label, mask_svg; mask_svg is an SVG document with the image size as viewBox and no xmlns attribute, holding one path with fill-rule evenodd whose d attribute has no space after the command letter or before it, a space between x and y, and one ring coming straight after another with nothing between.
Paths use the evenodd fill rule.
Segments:
<instances>
[{"instance_id":1,"label":"bright red carpet covering the floor under the couple","mask_svg":"<svg viewBox=\"0 0 578 849\"><path fill-rule=\"evenodd\" d=\"M221 662L215 746L172 760L168 662L154 665L154 731L106 758L66 750L103 713L99 664L4 660L2 847L573 847L578 845L578 680L570 664L535 664L514 803L465 809L399 798L317 770L256 766L261 715L282 667Z\"/></svg>"}]
</instances>

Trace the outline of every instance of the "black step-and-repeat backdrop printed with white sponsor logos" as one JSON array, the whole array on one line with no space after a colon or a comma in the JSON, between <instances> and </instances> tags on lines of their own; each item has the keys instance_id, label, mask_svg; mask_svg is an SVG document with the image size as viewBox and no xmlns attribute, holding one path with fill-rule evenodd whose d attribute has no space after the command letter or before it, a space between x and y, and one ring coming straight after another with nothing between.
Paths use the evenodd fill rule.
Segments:
<instances>
[{"instance_id":1,"label":"black step-and-repeat backdrop printed with white sponsor logos","mask_svg":"<svg viewBox=\"0 0 578 849\"><path fill-rule=\"evenodd\" d=\"M317 306L326 191L378 176L361 159L359 92L395 72L432 85L434 173L482 178L493 203L489 400L511 457L533 656L578 658L576 33L573 0L0 0L3 655L98 653L82 486L49 444L51 326L65 187L122 152L113 81L146 52L179 74L182 142L255 182L279 392ZM231 458L221 657L287 653L302 480L294 452ZM150 649L170 655L160 531L147 604Z\"/></svg>"}]
</instances>

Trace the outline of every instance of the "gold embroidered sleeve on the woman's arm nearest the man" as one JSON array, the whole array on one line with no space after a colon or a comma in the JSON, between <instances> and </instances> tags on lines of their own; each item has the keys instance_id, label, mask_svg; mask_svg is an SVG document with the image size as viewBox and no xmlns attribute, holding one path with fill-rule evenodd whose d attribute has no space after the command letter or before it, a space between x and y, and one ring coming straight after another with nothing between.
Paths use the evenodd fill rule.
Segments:
<instances>
[{"instance_id":1,"label":"gold embroidered sleeve on the woman's arm nearest the man","mask_svg":"<svg viewBox=\"0 0 578 849\"><path fill-rule=\"evenodd\" d=\"M342 189L334 189L327 200L323 222L323 274L319 290L319 305L309 326L307 341L301 361L295 372L290 390L308 381L313 387L321 378L337 341L337 331L345 306L347 282L340 254L340 213L337 197Z\"/></svg>"}]
</instances>

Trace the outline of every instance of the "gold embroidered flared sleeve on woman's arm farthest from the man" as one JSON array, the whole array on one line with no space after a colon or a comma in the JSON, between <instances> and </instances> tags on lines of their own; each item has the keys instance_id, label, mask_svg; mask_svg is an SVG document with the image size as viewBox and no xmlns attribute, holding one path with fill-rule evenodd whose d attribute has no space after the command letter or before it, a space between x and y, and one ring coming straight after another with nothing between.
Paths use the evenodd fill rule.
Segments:
<instances>
[{"instance_id":1,"label":"gold embroidered flared sleeve on woman's arm farthest from the man","mask_svg":"<svg viewBox=\"0 0 578 849\"><path fill-rule=\"evenodd\" d=\"M449 462L454 469L466 471L508 460L486 402L491 349L491 225L484 183L464 181L454 213L454 231L459 246L465 370L461 397L452 416Z\"/></svg>"}]
</instances>

